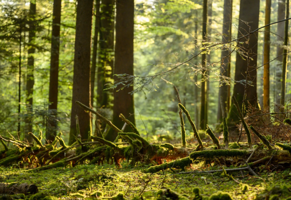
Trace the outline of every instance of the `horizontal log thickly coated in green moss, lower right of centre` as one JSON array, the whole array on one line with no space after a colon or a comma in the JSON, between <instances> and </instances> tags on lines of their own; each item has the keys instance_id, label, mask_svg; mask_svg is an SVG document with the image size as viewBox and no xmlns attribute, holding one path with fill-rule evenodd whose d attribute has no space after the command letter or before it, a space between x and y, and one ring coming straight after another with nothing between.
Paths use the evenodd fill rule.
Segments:
<instances>
[{"instance_id":1,"label":"horizontal log thickly coated in green moss, lower right of centre","mask_svg":"<svg viewBox=\"0 0 291 200\"><path fill-rule=\"evenodd\" d=\"M198 158L206 158L206 159L213 159L213 158L220 158L220 157L235 157L235 156L244 156L248 154L247 151L242 150L204 150L204 151L195 151L192 152L189 157L192 161L197 160Z\"/></svg>"}]
</instances>

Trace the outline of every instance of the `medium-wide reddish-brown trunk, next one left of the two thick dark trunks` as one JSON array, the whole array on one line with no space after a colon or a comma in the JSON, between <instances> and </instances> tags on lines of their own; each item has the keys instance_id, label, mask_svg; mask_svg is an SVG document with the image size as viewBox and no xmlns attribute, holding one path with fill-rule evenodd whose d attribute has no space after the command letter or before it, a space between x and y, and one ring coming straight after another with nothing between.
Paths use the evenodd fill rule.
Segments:
<instances>
[{"instance_id":1,"label":"medium-wide reddish-brown trunk, next one left of the two thick dark trunks","mask_svg":"<svg viewBox=\"0 0 291 200\"><path fill-rule=\"evenodd\" d=\"M49 118L46 140L54 141L57 130L59 49L60 49L61 0L54 0L51 31L51 67L49 76Z\"/></svg>"}]
</instances>

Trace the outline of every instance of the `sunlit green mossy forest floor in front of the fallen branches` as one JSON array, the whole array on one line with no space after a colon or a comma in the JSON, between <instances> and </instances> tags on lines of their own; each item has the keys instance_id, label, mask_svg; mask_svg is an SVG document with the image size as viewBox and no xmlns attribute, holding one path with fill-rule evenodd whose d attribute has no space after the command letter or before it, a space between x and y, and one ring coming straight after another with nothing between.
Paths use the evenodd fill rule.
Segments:
<instances>
[{"instance_id":1,"label":"sunlit green mossy forest floor in front of the fallen branches","mask_svg":"<svg viewBox=\"0 0 291 200\"><path fill-rule=\"evenodd\" d=\"M243 184L250 187L245 192L242 191L242 185L234 181L221 183L225 178L221 172L203 173L203 174L178 174L179 171L162 171L156 174L144 174L143 168L130 168L127 162L122 162L122 169L115 165L78 165L68 168L56 168L46 171L26 171L25 169L0 168L1 182L4 183L28 183L35 184L40 193L59 197L70 196L73 199L92 198L94 191L102 191L104 197L112 197L119 192L124 194L124 198L132 199L135 196L143 196L144 199L156 199L157 191L162 187L172 189L180 194L186 194L191 198L193 188L198 187L201 194L210 196L217 191L229 192L233 199L265 199L260 198L258 194L279 193L279 198L286 199L291 194L284 193L280 189L270 187L279 184L291 184L291 171L269 171L260 174L260 177L248 175L246 171L233 172L232 176ZM144 166L147 168L148 166ZM199 165L192 166L198 169ZM221 167L219 167L220 169ZM210 170L218 169L215 167ZM209 169L207 169L209 170ZM189 170L186 170L189 171ZM266 191L269 189L269 191ZM275 191L275 193L274 193ZM243 194L244 193L244 194ZM96 198L96 197L95 197ZM62 199L62 198L60 198ZM203 198L204 199L204 198ZM272 199L272 198L270 198Z\"/></svg>"}]
</instances>

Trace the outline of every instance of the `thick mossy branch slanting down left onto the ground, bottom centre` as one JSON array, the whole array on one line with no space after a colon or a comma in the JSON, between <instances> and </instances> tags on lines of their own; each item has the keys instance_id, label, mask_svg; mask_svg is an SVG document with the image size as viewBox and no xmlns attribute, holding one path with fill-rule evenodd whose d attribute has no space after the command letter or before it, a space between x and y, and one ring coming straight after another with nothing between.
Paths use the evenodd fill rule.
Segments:
<instances>
[{"instance_id":1,"label":"thick mossy branch slanting down left onto the ground, bottom centre","mask_svg":"<svg viewBox=\"0 0 291 200\"><path fill-rule=\"evenodd\" d=\"M165 170L168 168L179 168L179 169L184 170L185 167L187 167L190 164L192 164L192 161L190 160L189 157L186 157L186 158L174 160L172 162L167 162L161 165L152 166L149 169L147 169L145 173L156 173L158 171Z\"/></svg>"}]
</instances>

